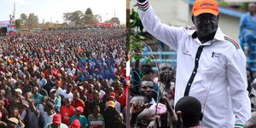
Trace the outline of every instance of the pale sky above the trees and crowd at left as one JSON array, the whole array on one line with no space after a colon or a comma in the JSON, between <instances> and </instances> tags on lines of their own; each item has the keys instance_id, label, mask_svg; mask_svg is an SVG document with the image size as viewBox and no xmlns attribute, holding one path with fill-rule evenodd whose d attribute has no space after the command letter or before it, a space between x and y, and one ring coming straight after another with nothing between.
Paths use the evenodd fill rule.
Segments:
<instances>
[{"instance_id":1,"label":"pale sky above the trees and crowd at left","mask_svg":"<svg viewBox=\"0 0 256 128\"><path fill-rule=\"evenodd\" d=\"M63 22L62 15L66 12L92 9L94 15L102 15L102 21L113 17L114 12L121 23L125 23L126 0L0 0L0 20L9 20L16 3L16 19L20 14L38 15L39 22Z\"/></svg>"}]
</instances>

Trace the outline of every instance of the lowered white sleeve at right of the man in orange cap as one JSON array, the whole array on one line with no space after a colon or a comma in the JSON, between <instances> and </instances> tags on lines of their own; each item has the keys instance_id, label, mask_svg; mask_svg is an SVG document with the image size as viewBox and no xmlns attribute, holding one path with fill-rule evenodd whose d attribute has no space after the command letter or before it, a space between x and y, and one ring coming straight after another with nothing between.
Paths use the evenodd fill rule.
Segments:
<instances>
[{"instance_id":1,"label":"lowered white sleeve at right of the man in orange cap","mask_svg":"<svg viewBox=\"0 0 256 128\"><path fill-rule=\"evenodd\" d=\"M231 50L227 58L227 77L236 127L242 127L251 117L251 103L247 92L246 56L241 49Z\"/></svg>"}]
</instances>

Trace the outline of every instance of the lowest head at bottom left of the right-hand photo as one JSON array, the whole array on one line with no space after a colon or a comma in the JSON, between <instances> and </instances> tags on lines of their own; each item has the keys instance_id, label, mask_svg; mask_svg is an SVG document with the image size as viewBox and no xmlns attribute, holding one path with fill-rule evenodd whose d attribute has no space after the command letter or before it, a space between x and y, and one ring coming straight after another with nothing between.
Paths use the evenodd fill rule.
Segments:
<instances>
[{"instance_id":1,"label":"lowest head at bottom left of the right-hand photo","mask_svg":"<svg viewBox=\"0 0 256 128\"><path fill-rule=\"evenodd\" d=\"M154 120L154 110L144 108L143 112L137 115L136 128L147 128L152 120Z\"/></svg>"}]
</instances>

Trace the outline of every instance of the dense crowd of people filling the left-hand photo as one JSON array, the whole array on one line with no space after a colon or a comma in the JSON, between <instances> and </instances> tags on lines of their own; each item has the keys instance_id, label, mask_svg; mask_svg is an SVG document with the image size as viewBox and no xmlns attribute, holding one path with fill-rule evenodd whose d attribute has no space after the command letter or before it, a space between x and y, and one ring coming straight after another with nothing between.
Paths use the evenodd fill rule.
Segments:
<instances>
[{"instance_id":1,"label":"dense crowd of people filling the left-hand photo","mask_svg":"<svg viewBox=\"0 0 256 128\"><path fill-rule=\"evenodd\" d=\"M0 37L0 127L124 128L124 27Z\"/></svg>"}]
</instances>

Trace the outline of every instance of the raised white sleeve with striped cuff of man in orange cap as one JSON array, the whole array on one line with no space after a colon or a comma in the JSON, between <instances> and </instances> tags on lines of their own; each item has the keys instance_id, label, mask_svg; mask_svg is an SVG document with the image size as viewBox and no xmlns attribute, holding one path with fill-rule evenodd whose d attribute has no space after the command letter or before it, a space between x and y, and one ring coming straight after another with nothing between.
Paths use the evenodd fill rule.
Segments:
<instances>
[{"instance_id":1,"label":"raised white sleeve with striped cuff of man in orange cap","mask_svg":"<svg viewBox=\"0 0 256 128\"><path fill-rule=\"evenodd\" d=\"M183 33L183 27L167 26L161 23L160 19L154 15L154 10L149 6L148 0L144 3L137 2L137 5L145 30L172 49L177 50L177 40Z\"/></svg>"}]
</instances>

